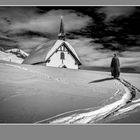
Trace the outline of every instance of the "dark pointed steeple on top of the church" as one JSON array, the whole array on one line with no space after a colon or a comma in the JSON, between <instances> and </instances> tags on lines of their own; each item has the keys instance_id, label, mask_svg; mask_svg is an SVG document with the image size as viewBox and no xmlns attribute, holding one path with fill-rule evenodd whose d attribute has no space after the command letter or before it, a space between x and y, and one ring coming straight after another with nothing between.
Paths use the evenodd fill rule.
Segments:
<instances>
[{"instance_id":1,"label":"dark pointed steeple on top of the church","mask_svg":"<svg viewBox=\"0 0 140 140\"><path fill-rule=\"evenodd\" d=\"M63 16L61 16L60 31L59 31L59 34L58 34L58 39L65 40L65 31L64 31Z\"/></svg>"}]
</instances>

